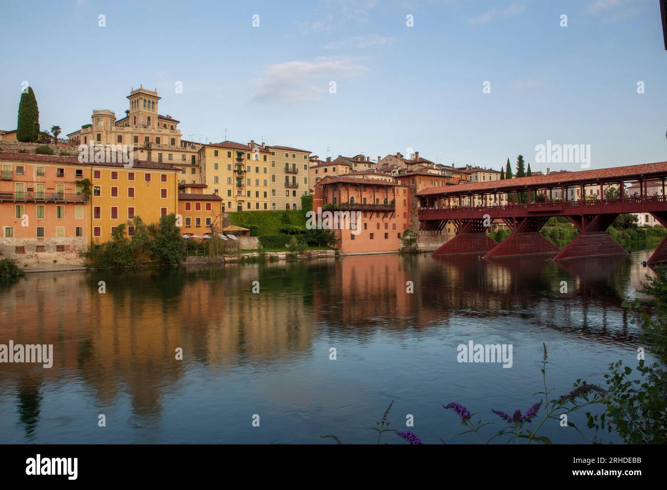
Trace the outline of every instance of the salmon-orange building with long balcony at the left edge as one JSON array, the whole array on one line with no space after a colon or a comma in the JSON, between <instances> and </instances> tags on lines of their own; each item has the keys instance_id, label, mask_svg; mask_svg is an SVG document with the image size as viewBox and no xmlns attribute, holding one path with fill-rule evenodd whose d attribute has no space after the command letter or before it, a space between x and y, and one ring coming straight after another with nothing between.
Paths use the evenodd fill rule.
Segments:
<instances>
[{"instance_id":1,"label":"salmon-orange building with long balcony at the left edge","mask_svg":"<svg viewBox=\"0 0 667 490\"><path fill-rule=\"evenodd\" d=\"M23 255L83 250L88 196L73 157L0 152L0 252Z\"/></svg>"}]
</instances>

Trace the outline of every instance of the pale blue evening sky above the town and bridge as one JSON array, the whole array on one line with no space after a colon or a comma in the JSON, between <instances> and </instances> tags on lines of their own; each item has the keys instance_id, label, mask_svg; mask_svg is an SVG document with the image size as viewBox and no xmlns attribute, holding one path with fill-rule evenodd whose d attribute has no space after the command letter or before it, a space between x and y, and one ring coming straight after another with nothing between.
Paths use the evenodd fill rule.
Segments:
<instances>
[{"instance_id":1,"label":"pale blue evening sky above the town and bridge","mask_svg":"<svg viewBox=\"0 0 667 490\"><path fill-rule=\"evenodd\" d=\"M581 167L538 161L548 141L590 145L590 168L667 160L658 0L23 0L0 40L0 129L25 81L64 133L123 117L143 84L201 142L534 171Z\"/></svg>"}]
</instances>

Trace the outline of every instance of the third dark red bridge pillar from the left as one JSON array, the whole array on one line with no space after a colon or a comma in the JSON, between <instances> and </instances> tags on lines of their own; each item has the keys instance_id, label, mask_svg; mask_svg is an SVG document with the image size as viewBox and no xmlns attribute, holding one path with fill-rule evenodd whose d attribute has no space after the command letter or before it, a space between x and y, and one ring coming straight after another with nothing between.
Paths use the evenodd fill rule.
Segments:
<instances>
[{"instance_id":1,"label":"third dark red bridge pillar from the left","mask_svg":"<svg viewBox=\"0 0 667 490\"><path fill-rule=\"evenodd\" d=\"M579 234L554 257L554 260L580 259L600 255L627 255L627 251L608 235L606 229L618 213L568 216Z\"/></svg>"}]
</instances>

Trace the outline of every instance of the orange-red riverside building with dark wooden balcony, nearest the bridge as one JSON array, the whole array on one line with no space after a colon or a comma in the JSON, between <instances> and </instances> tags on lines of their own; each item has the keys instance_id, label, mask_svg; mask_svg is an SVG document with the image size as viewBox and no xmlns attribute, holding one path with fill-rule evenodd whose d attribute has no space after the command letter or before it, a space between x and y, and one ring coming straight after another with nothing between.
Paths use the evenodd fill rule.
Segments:
<instances>
[{"instance_id":1,"label":"orange-red riverside building with dark wooden balcony, nearest the bridge","mask_svg":"<svg viewBox=\"0 0 667 490\"><path fill-rule=\"evenodd\" d=\"M342 253L396 252L408 228L408 187L378 179L325 177L315 184L313 211L355 215L356 229L336 229Z\"/></svg>"}]
</instances>

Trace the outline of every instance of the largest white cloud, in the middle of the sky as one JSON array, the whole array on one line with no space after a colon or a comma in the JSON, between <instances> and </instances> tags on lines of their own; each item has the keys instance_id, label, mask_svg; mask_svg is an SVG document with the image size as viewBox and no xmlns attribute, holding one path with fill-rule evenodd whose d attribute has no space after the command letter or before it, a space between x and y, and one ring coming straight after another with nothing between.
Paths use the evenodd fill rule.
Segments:
<instances>
[{"instance_id":1,"label":"largest white cloud, in the middle of the sky","mask_svg":"<svg viewBox=\"0 0 667 490\"><path fill-rule=\"evenodd\" d=\"M315 100L329 93L329 81L340 81L366 73L368 67L347 57L319 57L313 61L287 61L266 67L255 80L253 99L291 104Z\"/></svg>"}]
</instances>

